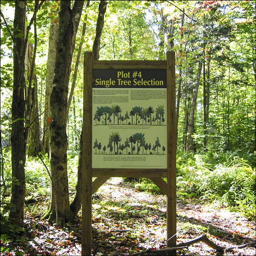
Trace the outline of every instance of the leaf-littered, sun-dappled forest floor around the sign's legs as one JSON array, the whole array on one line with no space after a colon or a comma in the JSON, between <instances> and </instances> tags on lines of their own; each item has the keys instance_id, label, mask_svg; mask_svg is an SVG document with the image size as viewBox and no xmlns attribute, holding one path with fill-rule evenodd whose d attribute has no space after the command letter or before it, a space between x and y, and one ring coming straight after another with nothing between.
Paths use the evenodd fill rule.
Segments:
<instances>
[{"instance_id":1,"label":"leaf-littered, sun-dappled forest floor around the sign's legs","mask_svg":"<svg viewBox=\"0 0 256 256\"><path fill-rule=\"evenodd\" d=\"M56 228L26 208L25 232L13 241L1 241L1 255L81 255L81 216L76 224ZM256 255L255 222L237 212L202 204L195 198L177 200L177 243L206 234L213 243L233 247L227 255ZM166 247L166 196L138 191L121 178L108 180L93 195L93 255L129 255ZM151 254L152 255L152 254ZM162 254L160 254L162 255ZM177 250L178 256L216 255L204 242Z\"/></svg>"}]
</instances>

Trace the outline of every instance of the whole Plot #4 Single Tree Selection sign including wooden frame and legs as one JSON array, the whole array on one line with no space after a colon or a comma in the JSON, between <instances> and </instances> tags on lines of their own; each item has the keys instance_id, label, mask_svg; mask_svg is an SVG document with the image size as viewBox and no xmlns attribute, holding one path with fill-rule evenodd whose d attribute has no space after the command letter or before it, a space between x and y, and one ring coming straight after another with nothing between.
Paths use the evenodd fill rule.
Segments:
<instances>
[{"instance_id":1,"label":"whole Plot #4 Single Tree Selection sign including wooden frame and legs","mask_svg":"<svg viewBox=\"0 0 256 256\"><path fill-rule=\"evenodd\" d=\"M82 255L92 253L92 194L111 177L146 177L167 195L167 246L176 245L174 52L124 61L84 53L82 163Z\"/></svg>"}]
</instances>

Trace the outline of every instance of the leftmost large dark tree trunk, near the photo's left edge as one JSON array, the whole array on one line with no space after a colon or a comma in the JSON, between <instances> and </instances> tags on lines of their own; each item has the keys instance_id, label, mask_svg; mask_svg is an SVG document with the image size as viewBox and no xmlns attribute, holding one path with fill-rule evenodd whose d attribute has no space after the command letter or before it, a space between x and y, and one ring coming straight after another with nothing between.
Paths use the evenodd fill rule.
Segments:
<instances>
[{"instance_id":1,"label":"leftmost large dark tree trunk, near the photo's left edge","mask_svg":"<svg viewBox=\"0 0 256 256\"><path fill-rule=\"evenodd\" d=\"M24 128L25 116L25 15L26 1L15 2L13 32L13 94L12 94L12 198L14 210L10 211L9 220L20 225L24 214L25 200L25 161L26 135Z\"/></svg>"}]
</instances>

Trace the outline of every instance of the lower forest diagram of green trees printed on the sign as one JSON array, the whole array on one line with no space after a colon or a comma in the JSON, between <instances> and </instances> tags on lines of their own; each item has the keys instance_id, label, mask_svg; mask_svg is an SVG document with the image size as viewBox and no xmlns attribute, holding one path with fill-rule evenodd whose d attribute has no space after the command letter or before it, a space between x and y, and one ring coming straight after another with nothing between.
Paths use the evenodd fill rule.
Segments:
<instances>
[{"instance_id":1,"label":"lower forest diagram of green trees printed on the sign","mask_svg":"<svg viewBox=\"0 0 256 256\"><path fill-rule=\"evenodd\" d=\"M150 142L142 132L136 132L126 138L122 138L119 132L112 132L107 145L102 145L95 139L93 149L94 154L104 155L165 155L166 150L164 146L161 147L158 136Z\"/></svg>"}]
</instances>

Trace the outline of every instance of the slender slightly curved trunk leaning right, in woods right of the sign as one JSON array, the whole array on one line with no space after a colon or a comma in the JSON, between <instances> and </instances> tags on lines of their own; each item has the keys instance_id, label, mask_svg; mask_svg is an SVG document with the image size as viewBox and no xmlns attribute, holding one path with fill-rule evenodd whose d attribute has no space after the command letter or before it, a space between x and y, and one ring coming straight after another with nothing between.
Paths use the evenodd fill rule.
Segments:
<instances>
[{"instance_id":1,"label":"slender slightly curved trunk leaning right, in woods right of the sign","mask_svg":"<svg viewBox=\"0 0 256 256\"><path fill-rule=\"evenodd\" d=\"M196 145L194 143L193 135L195 133L195 112L196 112L196 101L197 101L197 93L200 83L200 76L202 71L203 62L199 60L198 71L196 75L196 86L194 88L192 102L190 106L189 112L189 120L188 120L188 152L192 152L196 150Z\"/></svg>"}]
</instances>

